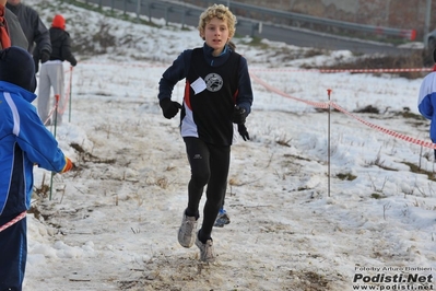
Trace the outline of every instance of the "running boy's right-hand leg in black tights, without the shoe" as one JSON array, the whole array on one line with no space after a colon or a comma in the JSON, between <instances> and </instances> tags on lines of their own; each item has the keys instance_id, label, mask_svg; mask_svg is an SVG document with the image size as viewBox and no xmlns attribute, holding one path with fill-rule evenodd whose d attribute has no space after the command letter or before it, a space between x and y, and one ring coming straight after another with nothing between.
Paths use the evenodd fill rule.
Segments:
<instances>
[{"instance_id":1,"label":"running boy's right-hand leg in black tights, without the shoe","mask_svg":"<svg viewBox=\"0 0 436 291\"><path fill-rule=\"evenodd\" d=\"M199 232L199 240L202 243L211 238L213 224L223 205L231 162L231 147L209 144L209 150L211 174L203 209L203 223Z\"/></svg>"}]
</instances>

